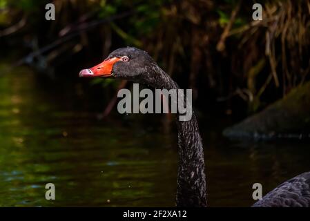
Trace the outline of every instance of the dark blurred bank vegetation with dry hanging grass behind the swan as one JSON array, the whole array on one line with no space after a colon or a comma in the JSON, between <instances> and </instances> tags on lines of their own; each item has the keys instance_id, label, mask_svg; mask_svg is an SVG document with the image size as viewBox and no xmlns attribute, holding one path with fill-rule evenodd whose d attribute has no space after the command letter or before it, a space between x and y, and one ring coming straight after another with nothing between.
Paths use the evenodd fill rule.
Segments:
<instances>
[{"instance_id":1,"label":"dark blurred bank vegetation with dry hanging grass behind the swan","mask_svg":"<svg viewBox=\"0 0 310 221\"><path fill-rule=\"evenodd\" d=\"M55 21L44 19L46 3L55 4ZM64 70L75 79L110 51L136 46L193 88L198 106L251 113L304 84L310 72L310 1L260 1L262 21L253 21L253 3L0 0L0 46L21 58L17 65L56 79Z\"/></svg>"}]
</instances>

